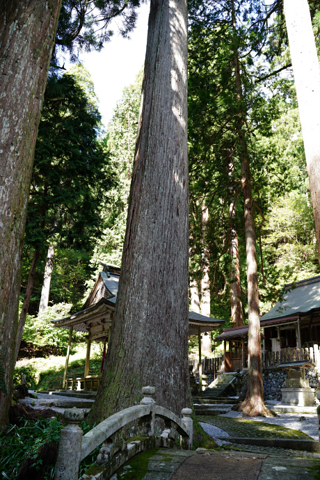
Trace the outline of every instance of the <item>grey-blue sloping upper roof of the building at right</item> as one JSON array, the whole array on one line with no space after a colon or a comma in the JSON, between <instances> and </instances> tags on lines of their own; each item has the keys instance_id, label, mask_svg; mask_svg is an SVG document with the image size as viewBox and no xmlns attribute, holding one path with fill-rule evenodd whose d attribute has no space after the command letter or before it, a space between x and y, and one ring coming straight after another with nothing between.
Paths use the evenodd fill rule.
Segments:
<instances>
[{"instance_id":1,"label":"grey-blue sloping upper roof of the building at right","mask_svg":"<svg viewBox=\"0 0 320 480\"><path fill-rule=\"evenodd\" d=\"M284 317L296 317L307 314L315 309L320 309L320 275L285 285L284 301L278 302L269 312L261 317L261 321L282 319Z\"/></svg>"}]
</instances>

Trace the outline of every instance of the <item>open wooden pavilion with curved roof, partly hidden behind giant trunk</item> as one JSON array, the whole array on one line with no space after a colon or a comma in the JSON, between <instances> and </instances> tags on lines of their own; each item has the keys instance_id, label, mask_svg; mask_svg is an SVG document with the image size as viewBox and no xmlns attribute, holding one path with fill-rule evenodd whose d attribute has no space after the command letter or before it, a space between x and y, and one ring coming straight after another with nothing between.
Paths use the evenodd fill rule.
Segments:
<instances>
[{"instance_id":1,"label":"open wooden pavilion with curved roof, partly hidden behind giant trunk","mask_svg":"<svg viewBox=\"0 0 320 480\"><path fill-rule=\"evenodd\" d=\"M105 266L104 271L99 272L95 286L83 305L83 310L64 319L51 320L55 327L69 328L70 330L63 374L63 389L65 390L68 388L71 390L74 390L74 388L77 388L77 390L93 390L99 386L101 376L89 376L90 346L93 341L105 342L106 339L109 341L111 337L119 277L120 269L118 267ZM201 333L210 332L220 327L223 322L224 320L205 317L205 315L189 311L189 335L200 335ZM67 378L73 330L88 333L86 365L82 378Z\"/></svg>"}]
</instances>

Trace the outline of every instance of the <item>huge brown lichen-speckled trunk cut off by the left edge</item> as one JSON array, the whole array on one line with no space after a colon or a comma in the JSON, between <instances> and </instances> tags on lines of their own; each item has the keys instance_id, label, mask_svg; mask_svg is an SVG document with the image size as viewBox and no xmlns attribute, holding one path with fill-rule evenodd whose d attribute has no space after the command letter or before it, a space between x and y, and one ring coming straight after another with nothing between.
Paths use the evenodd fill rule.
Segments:
<instances>
[{"instance_id":1,"label":"huge brown lichen-speckled trunk cut off by the left edge","mask_svg":"<svg viewBox=\"0 0 320 480\"><path fill-rule=\"evenodd\" d=\"M8 422L26 204L60 3L0 2L0 425Z\"/></svg>"}]
</instances>

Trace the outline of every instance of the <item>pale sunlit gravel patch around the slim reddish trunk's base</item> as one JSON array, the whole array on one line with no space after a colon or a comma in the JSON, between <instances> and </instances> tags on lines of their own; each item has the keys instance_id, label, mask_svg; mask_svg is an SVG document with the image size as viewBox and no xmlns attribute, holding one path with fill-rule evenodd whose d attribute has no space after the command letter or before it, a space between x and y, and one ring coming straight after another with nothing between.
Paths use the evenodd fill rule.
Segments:
<instances>
[{"instance_id":1,"label":"pale sunlit gravel patch around the slim reddish trunk's base","mask_svg":"<svg viewBox=\"0 0 320 480\"><path fill-rule=\"evenodd\" d=\"M298 430L306 433L314 440L319 440L318 433L318 417L314 413L305 413L299 415L297 413L279 413L278 417L250 417L250 420L256 422L266 422L268 424L275 424L285 426L287 429ZM230 412L220 415L221 417L243 418L241 412Z\"/></svg>"}]
</instances>

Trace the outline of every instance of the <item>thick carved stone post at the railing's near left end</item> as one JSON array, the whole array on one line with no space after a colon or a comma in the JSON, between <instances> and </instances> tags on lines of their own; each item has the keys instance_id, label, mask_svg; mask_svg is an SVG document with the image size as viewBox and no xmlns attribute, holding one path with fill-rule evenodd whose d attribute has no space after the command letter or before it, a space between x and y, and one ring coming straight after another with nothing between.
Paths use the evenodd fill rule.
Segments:
<instances>
[{"instance_id":1,"label":"thick carved stone post at the railing's near left end","mask_svg":"<svg viewBox=\"0 0 320 480\"><path fill-rule=\"evenodd\" d=\"M77 480L83 434L78 424L83 420L83 410L67 408L63 416L67 426L60 433L54 480Z\"/></svg>"}]
</instances>

